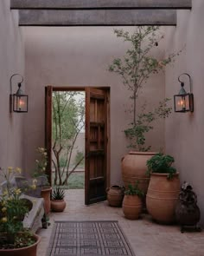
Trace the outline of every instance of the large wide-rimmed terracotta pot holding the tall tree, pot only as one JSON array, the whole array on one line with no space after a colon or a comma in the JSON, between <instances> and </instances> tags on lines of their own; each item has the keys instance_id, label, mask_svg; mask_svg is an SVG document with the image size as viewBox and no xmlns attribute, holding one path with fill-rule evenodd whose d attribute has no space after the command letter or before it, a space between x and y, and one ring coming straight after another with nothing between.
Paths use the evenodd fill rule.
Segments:
<instances>
[{"instance_id":1,"label":"large wide-rimmed terracotta pot holding the tall tree, pot only","mask_svg":"<svg viewBox=\"0 0 204 256\"><path fill-rule=\"evenodd\" d=\"M150 177L146 175L146 162L155 154L155 152L131 151L124 156L122 159L122 178L124 187L127 188L128 184L135 185L136 182L139 181L139 189L141 189L144 194L147 193Z\"/></svg>"}]
</instances>

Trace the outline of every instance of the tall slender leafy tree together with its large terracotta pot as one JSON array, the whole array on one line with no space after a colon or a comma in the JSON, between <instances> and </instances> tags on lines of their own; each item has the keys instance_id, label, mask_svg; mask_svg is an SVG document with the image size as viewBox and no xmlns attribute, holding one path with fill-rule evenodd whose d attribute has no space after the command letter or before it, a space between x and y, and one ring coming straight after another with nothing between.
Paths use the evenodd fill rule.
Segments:
<instances>
[{"instance_id":1,"label":"tall slender leafy tree together with its large terracotta pot","mask_svg":"<svg viewBox=\"0 0 204 256\"><path fill-rule=\"evenodd\" d=\"M169 63L175 61L175 56L179 55L179 52L173 53L163 59L154 56L152 50L157 48L164 37L158 30L158 26L138 26L133 34L124 30L114 30L116 36L131 44L131 47L127 49L124 58L114 59L109 66L109 71L120 75L124 86L131 92L132 104L128 109L131 114L131 123L124 130L130 142L128 148L131 148L131 152L122 159L124 186L140 181L139 187L144 193L147 192L150 181L145 174L146 161L156 154L147 152L150 146L145 145L145 135L153 129L152 121L168 117L171 108L168 107L169 99L164 99L151 111L146 110L146 104L142 106L142 110L138 111L137 109L141 109L141 106L137 106L137 99L150 75L163 70Z\"/></svg>"}]
</instances>

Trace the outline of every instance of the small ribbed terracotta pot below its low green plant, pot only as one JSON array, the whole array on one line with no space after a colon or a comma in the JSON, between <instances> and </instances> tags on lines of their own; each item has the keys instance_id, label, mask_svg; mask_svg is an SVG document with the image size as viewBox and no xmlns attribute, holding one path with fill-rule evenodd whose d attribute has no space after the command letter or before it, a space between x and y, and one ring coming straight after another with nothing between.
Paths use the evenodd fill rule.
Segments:
<instances>
[{"instance_id":1,"label":"small ribbed terracotta pot below its low green plant, pot only","mask_svg":"<svg viewBox=\"0 0 204 256\"><path fill-rule=\"evenodd\" d=\"M142 200L137 195L124 195L124 217L129 220L137 220L142 212Z\"/></svg>"}]
</instances>

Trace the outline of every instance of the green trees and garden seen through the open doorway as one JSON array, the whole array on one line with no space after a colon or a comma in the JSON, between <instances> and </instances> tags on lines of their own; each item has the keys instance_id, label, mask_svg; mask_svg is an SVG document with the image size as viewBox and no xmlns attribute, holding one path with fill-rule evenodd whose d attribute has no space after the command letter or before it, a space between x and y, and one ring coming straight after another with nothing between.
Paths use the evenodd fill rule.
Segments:
<instances>
[{"instance_id":1,"label":"green trees and garden seen through the open doorway","mask_svg":"<svg viewBox=\"0 0 204 256\"><path fill-rule=\"evenodd\" d=\"M85 94L78 91L54 91L52 113L53 181L54 185L67 187L70 175L84 161L84 141L81 135L85 125ZM77 143L79 137L80 142Z\"/></svg>"}]
</instances>

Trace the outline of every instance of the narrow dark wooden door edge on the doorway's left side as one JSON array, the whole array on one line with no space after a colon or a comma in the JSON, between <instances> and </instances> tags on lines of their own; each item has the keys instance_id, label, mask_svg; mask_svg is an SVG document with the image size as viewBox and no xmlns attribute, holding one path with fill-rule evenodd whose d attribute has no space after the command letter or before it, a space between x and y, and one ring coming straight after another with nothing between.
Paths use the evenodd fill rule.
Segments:
<instances>
[{"instance_id":1,"label":"narrow dark wooden door edge on the doorway's left side","mask_svg":"<svg viewBox=\"0 0 204 256\"><path fill-rule=\"evenodd\" d=\"M52 186L52 95L53 87L45 88L45 148L48 153L48 166L46 173L49 184Z\"/></svg>"}]
</instances>

